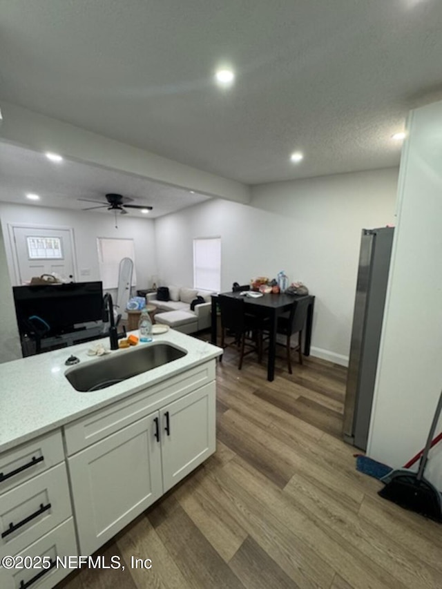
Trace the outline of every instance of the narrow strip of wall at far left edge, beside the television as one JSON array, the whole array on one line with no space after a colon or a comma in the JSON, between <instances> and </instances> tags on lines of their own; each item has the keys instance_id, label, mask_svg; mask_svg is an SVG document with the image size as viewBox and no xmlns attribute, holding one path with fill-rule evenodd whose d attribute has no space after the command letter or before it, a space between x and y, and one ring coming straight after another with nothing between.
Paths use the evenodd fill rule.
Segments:
<instances>
[{"instance_id":1,"label":"narrow strip of wall at far left edge, beside the television","mask_svg":"<svg viewBox=\"0 0 442 589\"><path fill-rule=\"evenodd\" d=\"M0 226L0 305L1 305L1 338L0 363L21 358L19 330L15 318L12 284L6 261L6 249L3 231Z\"/></svg>"}]
</instances>

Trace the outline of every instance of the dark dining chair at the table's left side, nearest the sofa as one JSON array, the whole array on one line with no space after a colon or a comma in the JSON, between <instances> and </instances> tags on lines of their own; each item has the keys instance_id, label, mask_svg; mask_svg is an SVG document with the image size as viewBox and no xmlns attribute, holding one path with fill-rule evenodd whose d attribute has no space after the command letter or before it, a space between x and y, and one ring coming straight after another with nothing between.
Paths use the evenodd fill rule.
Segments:
<instances>
[{"instance_id":1,"label":"dark dining chair at the table's left side, nearest the sofa","mask_svg":"<svg viewBox=\"0 0 442 589\"><path fill-rule=\"evenodd\" d=\"M251 352L258 352L258 361L262 356L262 333L260 318L247 315L244 312L244 299L232 298L229 296L218 296L218 306L221 316L221 347L236 346L240 351L240 363L238 369L242 368L242 360ZM231 341L227 341L231 338ZM249 347L246 351L245 348ZM222 356L220 356L220 362Z\"/></svg>"}]
</instances>

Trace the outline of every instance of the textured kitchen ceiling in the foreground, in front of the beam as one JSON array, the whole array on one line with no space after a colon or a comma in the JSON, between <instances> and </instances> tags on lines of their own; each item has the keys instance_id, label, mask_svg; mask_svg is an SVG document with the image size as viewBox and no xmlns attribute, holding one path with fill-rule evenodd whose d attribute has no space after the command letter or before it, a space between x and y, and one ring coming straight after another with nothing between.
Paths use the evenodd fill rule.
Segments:
<instances>
[{"instance_id":1,"label":"textured kitchen ceiling in the foreground, in front of the beam","mask_svg":"<svg viewBox=\"0 0 442 589\"><path fill-rule=\"evenodd\" d=\"M394 166L441 97L441 0L0 6L0 99L250 184Z\"/></svg>"}]
</instances>

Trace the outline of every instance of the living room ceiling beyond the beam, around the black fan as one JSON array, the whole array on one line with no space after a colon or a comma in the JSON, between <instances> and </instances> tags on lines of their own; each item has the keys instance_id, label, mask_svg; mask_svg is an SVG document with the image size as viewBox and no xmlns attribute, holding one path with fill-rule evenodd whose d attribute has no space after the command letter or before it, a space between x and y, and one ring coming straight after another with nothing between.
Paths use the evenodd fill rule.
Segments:
<instances>
[{"instance_id":1,"label":"living room ceiling beyond the beam, around the black fan","mask_svg":"<svg viewBox=\"0 0 442 589\"><path fill-rule=\"evenodd\" d=\"M149 219L209 199L205 195L191 194L188 190L108 168L67 160L54 164L42 153L1 142L0 179L0 201L80 210L94 204L77 199L88 198L105 204L105 195L111 192L131 198L130 204L153 206L148 215L127 209L132 217ZM40 200L30 201L26 199L26 193L37 193ZM108 214L107 209L92 212Z\"/></svg>"}]
</instances>

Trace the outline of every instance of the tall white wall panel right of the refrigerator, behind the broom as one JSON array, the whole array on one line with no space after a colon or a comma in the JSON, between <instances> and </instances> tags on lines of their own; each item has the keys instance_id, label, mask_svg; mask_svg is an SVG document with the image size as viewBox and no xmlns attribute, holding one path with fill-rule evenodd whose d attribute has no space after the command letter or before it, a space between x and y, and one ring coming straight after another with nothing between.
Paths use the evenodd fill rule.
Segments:
<instances>
[{"instance_id":1,"label":"tall white wall panel right of the refrigerator, behind the broom","mask_svg":"<svg viewBox=\"0 0 442 589\"><path fill-rule=\"evenodd\" d=\"M407 133L367 447L392 467L425 445L442 387L442 102L412 111ZM442 489L436 454L428 476Z\"/></svg>"}]
</instances>

